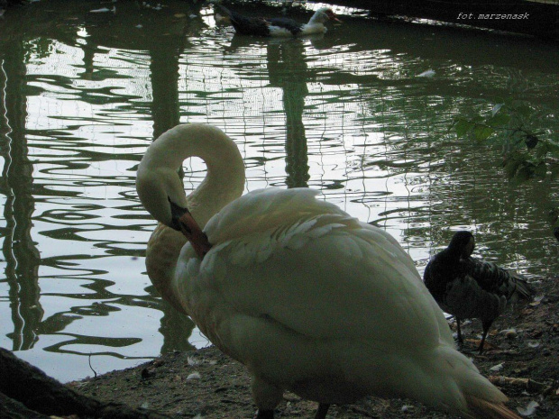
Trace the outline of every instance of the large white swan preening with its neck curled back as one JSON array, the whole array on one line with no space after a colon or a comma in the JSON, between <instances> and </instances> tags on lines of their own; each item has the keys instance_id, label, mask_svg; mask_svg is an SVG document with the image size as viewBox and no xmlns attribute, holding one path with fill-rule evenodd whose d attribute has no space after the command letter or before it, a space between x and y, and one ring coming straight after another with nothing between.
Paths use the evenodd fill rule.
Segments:
<instances>
[{"instance_id":1,"label":"large white swan preening with its neck curled back","mask_svg":"<svg viewBox=\"0 0 559 419\"><path fill-rule=\"evenodd\" d=\"M187 198L177 169L190 156L206 161L207 175ZM136 184L162 223L147 250L152 282L247 367L257 417L273 417L286 389L319 402L317 418L330 404L366 395L409 397L464 417L519 417L454 349L443 313L397 241L310 189L241 196L243 159L217 128L165 132L143 157ZM196 222L170 202L188 206Z\"/></svg>"}]
</instances>

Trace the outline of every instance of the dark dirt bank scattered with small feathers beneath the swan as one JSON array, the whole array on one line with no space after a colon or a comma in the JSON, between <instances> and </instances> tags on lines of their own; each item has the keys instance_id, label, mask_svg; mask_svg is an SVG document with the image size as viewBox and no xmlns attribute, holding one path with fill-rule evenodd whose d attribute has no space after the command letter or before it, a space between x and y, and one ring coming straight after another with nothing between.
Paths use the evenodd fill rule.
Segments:
<instances>
[{"instance_id":1,"label":"dark dirt bank scattered with small feathers beneath the swan","mask_svg":"<svg viewBox=\"0 0 559 419\"><path fill-rule=\"evenodd\" d=\"M530 417L559 418L559 278L546 278L535 285L534 302L501 315L486 342L488 350L482 355L473 351L470 356L481 372L509 396L512 410L527 414L530 409L523 409L536 403ZM463 326L472 350L480 332L478 321ZM173 417L252 418L255 411L246 369L213 347L164 354L133 369L113 371L69 386L105 402L144 407ZM312 418L315 411L316 403L286 393L276 417ZM375 397L354 405L333 405L327 416L367 417L449 416L410 400Z\"/></svg>"}]
</instances>

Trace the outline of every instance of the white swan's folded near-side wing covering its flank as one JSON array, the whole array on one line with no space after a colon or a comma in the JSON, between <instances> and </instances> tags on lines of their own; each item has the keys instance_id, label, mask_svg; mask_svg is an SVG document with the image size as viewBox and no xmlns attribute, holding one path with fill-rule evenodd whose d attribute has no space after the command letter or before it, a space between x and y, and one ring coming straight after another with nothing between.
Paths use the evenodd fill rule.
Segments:
<instances>
[{"instance_id":1,"label":"white swan's folded near-side wing covering its flank","mask_svg":"<svg viewBox=\"0 0 559 419\"><path fill-rule=\"evenodd\" d=\"M326 205L313 195L312 205ZM268 205L273 196L265 198ZM299 207L289 207L306 212L307 198L302 199ZM289 218L289 212L283 213ZM252 226L267 225L268 230L213 241L215 247L201 264L191 259L187 246L179 261L179 293L191 304L222 305L317 339L452 343L444 315L397 241L339 209L307 213L296 223L278 225L258 220L258 211L245 212L251 214L245 215L245 223L256 214ZM236 215L226 225L242 229L243 216ZM219 236L219 229L212 229L210 221L210 241L212 234ZM214 302L204 301L208 298Z\"/></svg>"}]
</instances>

